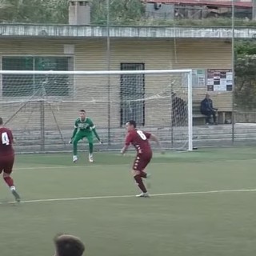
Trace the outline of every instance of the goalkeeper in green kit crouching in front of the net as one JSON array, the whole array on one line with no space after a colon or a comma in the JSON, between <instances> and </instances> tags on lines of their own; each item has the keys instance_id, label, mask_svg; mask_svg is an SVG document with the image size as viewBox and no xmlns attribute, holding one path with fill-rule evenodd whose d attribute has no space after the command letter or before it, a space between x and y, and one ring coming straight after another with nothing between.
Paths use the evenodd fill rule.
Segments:
<instances>
[{"instance_id":1,"label":"goalkeeper in green kit crouching in front of the net","mask_svg":"<svg viewBox=\"0 0 256 256\"><path fill-rule=\"evenodd\" d=\"M83 138L87 138L87 141L89 142L89 161L94 162L94 135L98 139L98 142L102 144L102 141L95 130L94 123L90 118L86 117L85 110L80 110L80 117L74 122L74 132L70 140L70 144L73 144L73 162L78 161L78 142Z\"/></svg>"}]
</instances>

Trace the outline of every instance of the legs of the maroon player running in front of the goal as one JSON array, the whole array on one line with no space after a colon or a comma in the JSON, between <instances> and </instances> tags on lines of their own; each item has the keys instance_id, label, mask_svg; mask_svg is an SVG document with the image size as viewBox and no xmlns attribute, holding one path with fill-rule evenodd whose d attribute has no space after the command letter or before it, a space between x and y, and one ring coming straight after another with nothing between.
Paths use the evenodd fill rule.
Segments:
<instances>
[{"instance_id":1,"label":"legs of the maroon player running in front of the goal","mask_svg":"<svg viewBox=\"0 0 256 256\"><path fill-rule=\"evenodd\" d=\"M147 193L147 190L146 190L146 186L142 181L142 178L146 178L146 173L143 171L146 166L147 166L147 163L145 159L141 158L140 156L137 156L135 158L132 173L134 175L134 180L138 185L138 188L142 190L142 193L137 195L137 197L140 197L140 198L149 197L149 194Z\"/></svg>"}]
</instances>

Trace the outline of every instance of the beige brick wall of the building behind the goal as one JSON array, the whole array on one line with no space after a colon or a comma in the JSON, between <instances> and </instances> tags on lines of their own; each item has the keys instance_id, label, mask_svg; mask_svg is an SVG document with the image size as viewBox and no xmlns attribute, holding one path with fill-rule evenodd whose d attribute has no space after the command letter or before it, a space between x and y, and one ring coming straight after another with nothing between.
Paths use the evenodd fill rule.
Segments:
<instances>
[{"instance_id":1,"label":"beige brick wall of the building behind the goal","mask_svg":"<svg viewBox=\"0 0 256 256\"><path fill-rule=\"evenodd\" d=\"M64 45L74 45L74 54L65 54ZM102 39L86 40L43 40L43 39L2 39L0 40L1 56L34 55L34 56L71 56L74 58L74 70L107 70L106 41ZM120 70L121 62L145 63L146 70L161 69L200 69L230 68L231 45L218 40L112 40L110 46L110 69ZM180 75L146 75L145 77L145 125L170 125L170 90L174 89L179 96L186 98L186 82ZM206 86L194 88L194 98L201 99L206 93ZM231 108L231 93L211 93L215 106ZM74 94L63 102L55 101L49 106L44 103L44 125L46 130L73 126L79 109L86 109L87 114L101 127L108 123L108 77L76 76ZM2 98L6 102L7 98ZM110 113L111 126L120 126L120 77L110 77ZM40 111L42 103L26 102L5 104L1 106L4 118L16 112L10 126L36 126L40 130ZM20 110L21 108L21 110ZM33 119L34 118L34 119ZM21 122L22 120L22 122ZM34 120L32 124L31 120ZM37 121L36 121L37 120ZM22 125L21 125L22 123ZM22 126L22 127L21 127ZM71 129L71 128L70 128Z\"/></svg>"}]
</instances>

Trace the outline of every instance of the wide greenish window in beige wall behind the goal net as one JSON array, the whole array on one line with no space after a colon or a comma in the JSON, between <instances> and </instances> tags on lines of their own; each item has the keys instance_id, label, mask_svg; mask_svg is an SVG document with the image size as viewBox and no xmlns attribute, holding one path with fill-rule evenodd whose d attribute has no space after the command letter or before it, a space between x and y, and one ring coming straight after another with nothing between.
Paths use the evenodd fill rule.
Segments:
<instances>
[{"instance_id":1,"label":"wide greenish window in beige wall behind the goal net","mask_svg":"<svg viewBox=\"0 0 256 256\"><path fill-rule=\"evenodd\" d=\"M70 57L2 57L2 70L72 70ZM3 97L68 96L68 75L2 75Z\"/></svg>"}]
</instances>

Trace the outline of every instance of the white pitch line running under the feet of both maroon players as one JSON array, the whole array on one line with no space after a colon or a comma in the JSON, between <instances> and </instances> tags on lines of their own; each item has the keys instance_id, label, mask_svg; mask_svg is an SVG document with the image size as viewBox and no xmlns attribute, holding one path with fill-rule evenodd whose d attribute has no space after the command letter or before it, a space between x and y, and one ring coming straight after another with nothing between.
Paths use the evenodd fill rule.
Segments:
<instances>
[{"instance_id":1,"label":"white pitch line running under the feet of both maroon players","mask_svg":"<svg viewBox=\"0 0 256 256\"><path fill-rule=\"evenodd\" d=\"M242 190L208 190L208 191L190 191L190 192L174 192L163 194L150 194L150 197L165 197L165 196L177 196L177 195L193 195L193 194L223 194L223 193L243 193L243 192L256 192L256 189L242 189ZM82 201L82 200L94 200L94 199L111 199L111 198L134 198L134 195L106 195L106 196L93 196L84 198L50 198L50 199L35 199L25 200L22 203L32 202L67 202L67 201ZM3 204L14 204L16 202L0 202Z\"/></svg>"}]
</instances>

